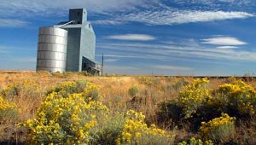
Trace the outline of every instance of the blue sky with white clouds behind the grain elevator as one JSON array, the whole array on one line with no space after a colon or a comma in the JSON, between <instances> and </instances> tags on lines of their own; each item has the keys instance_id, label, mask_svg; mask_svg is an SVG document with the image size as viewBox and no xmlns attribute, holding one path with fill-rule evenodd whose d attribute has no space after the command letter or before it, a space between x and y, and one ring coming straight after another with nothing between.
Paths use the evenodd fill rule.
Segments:
<instances>
[{"instance_id":1,"label":"blue sky with white clouds behind the grain elevator","mask_svg":"<svg viewBox=\"0 0 256 145\"><path fill-rule=\"evenodd\" d=\"M255 0L0 0L0 70L35 70L38 27L85 8L104 73L255 75Z\"/></svg>"}]
</instances>

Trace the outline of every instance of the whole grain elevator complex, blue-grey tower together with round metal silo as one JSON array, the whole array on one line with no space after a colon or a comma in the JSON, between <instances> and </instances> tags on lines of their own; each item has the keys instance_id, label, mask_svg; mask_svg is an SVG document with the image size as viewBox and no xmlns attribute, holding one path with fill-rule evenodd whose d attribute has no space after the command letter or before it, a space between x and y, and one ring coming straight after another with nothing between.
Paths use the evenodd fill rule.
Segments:
<instances>
[{"instance_id":1,"label":"whole grain elevator complex, blue-grey tower together with round metal silo","mask_svg":"<svg viewBox=\"0 0 256 145\"><path fill-rule=\"evenodd\" d=\"M69 9L69 20L39 28L37 71L99 74L96 35L86 9Z\"/></svg>"}]
</instances>

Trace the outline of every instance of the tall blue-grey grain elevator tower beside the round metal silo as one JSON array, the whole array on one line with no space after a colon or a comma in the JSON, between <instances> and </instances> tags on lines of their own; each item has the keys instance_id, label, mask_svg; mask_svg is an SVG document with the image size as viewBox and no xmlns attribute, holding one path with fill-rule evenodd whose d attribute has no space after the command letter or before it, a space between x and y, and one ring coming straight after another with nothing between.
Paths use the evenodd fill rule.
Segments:
<instances>
[{"instance_id":1,"label":"tall blue-grey grain elevator tower beside the round metal silo","mask_svg":"<svg viewBox=\"0 0 256 145\"><path fill-rule=\"evenodd\" d=\"M60 22L53 27L67 32L67 42L65 42L67 43L67 50L65 49L64 60L66 62L65 71L100 72L100 64L95 61L96 35L90 21L87 21L86 9L69 9L68 21ZM40 67L39 64L37 65L37 70L42 70L38 68L43 67ZM55 70L49 72L56 72ZM63 70L63 67L59 70Z\"/></svg>"}]
</instances>

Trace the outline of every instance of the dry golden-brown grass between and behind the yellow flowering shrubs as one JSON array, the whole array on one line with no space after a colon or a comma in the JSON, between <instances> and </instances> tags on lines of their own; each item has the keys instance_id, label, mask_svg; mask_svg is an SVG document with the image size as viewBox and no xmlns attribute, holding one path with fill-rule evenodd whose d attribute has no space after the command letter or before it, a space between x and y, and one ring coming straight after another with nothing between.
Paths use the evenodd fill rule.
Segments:
<instances>
[{"instance_id":1,"label":"dry golden-brown grass between and behind the yellow flowering shrubs","mask_svg":"<svg viewBox=\"0 0 256 145\"><path fill-rule=\"evenodd\" d=\"M209 88L215 90L219 84L228 83L231 78L212 78ZM22 82L25 80L32 80L38 84L38 93L27 93L29 90L20 90L20 94L14 98L7 98L11 102L15 102L20 109L20 115L17 122L22 122L26 119L32 119L38 106L44 100L45 92L51 89L56 84L73 81L73 80L88 80L93 84L99 86L102 102L104 102L111 109L127 110L129 108L136 109L146 115L146 122L148 124L158 124L157 112L159 110L160 102L166 100L173 100L177 98L178 91L183 88L183 85L191 82L192 77L177 78L177 77L150 77L150 76L116 76L116 77L93 77L84 76L82 73L15 73L15 72L0 72L0 90L5 89L11 84ZM256 80L253 78L247 79L247 84L252 84L256 87ZM130 96L128 90L136 86L138 93L136 96ZM166 126L162 126L165 128ZM246 126L241 126L237 129L241 134L250 133L253 129L248 127L249 132L242 129ZM3 134L8 130L8 134ZM11 122L6 122L0 125L0 140L1 138L18 137L20 141L24 140L24 136L15 136L15 126ZM187 138L190 134L187 130L178 132L178 138ZM253 131L255 134L255 131ZM4 137L3 137L4 136ZM196 136L196 135L193 135ZM247 135L249 137L250 135ZM237 136L237 140L242 140ZM243 138L244 139L244 138ZM255 142L254 140L252 142Z\"/></svg>"}]
</instances>

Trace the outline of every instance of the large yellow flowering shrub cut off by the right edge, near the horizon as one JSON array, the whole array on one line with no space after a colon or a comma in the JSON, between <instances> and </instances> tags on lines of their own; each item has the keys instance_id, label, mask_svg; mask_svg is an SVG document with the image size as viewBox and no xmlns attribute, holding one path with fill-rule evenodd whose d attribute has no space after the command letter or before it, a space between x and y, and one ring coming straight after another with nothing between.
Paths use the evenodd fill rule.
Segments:
<instances>
[{"instance_id":1,"label":"large yellow flowering shrub cut off by the right edge, near the horizon","mask_svg":"<svg viewBox=\"0 0 256 145\"><path fill-rule=\"evenodd\" d=\"M228 99L232 110L238 111L241 115L254 115L256 110L256 90L252 85L245 84L238 80L231 84L219 86L220 96Z\"/></svg>"}]
</instances>

